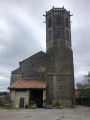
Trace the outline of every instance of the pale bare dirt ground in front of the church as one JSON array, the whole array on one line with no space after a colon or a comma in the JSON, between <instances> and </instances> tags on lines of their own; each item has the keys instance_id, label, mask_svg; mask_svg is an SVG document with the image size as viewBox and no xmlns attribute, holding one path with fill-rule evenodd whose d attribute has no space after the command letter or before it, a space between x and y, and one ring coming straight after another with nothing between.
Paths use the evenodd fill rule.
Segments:
<instances>
[{"instance_id":1,"label":"pale bare dirt ground in front of the church","mask_svg":"<svg viewBox=\"0 0 90 120\"><path fill-rule=\"evenodd\" d=\"M90 120L90 107L63 109L0 109L0 120Z\"/></svg>"}]
</instances>

